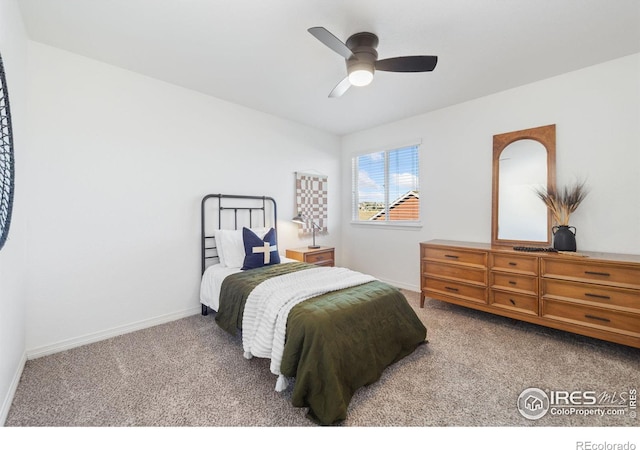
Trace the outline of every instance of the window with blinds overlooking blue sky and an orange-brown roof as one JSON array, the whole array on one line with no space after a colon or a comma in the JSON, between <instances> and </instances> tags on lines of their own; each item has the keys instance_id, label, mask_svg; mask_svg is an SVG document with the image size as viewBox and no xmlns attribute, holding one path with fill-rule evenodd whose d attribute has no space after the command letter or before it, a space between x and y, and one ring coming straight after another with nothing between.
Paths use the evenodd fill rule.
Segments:
<instances>
[{"instance_id":1,"label":"window with blinds overlooking blue sky and an orange-brown roof","mask_svg":"<svg viewBox=\"0 0 640 450\"><path fill-rule=\"evenodd\" d=\"M420 220L419 145L352 159L352 219L358 223Z\"/></svg>"}]
</instances>

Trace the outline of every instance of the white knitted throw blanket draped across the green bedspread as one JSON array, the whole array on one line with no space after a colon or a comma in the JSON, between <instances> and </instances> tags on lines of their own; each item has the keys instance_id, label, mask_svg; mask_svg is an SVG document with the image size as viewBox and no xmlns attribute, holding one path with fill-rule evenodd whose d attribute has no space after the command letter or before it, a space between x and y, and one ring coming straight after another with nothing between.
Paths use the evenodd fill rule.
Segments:
<instances>
[{"instance_id":1,"label":"white knitted throw blanket draped across the green bedspread","mask_svg":"<svg viewBox=\"0 0 640 450\"><path fill-rule=\"evenodd\" d=\"M298 303L327 292L375 280L344 267L318 267L263 281L247 298L242 316L244 357L271 358L271 372L278 375L276 391L287 387L280 373L289 311Z\"/></svg>"}]
</instances>

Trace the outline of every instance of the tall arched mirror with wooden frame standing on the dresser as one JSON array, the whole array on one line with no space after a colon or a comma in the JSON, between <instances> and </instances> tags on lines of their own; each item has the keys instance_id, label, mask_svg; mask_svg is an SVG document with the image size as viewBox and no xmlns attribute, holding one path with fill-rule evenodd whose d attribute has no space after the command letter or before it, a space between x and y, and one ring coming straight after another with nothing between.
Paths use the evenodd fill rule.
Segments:
<instances>
[{"instance_id":1,"label":"tall arched mirror with wooden frame standing on the dresser","mask_svg":"<svg viewBox=\"0 0 640 450\"><path fill-rule=\"evenodd\" d=\"M555 179L555 125L493 136L492 244L551 245L551 215L536 188L554 188Z\"/></svg>"}]
</instances>

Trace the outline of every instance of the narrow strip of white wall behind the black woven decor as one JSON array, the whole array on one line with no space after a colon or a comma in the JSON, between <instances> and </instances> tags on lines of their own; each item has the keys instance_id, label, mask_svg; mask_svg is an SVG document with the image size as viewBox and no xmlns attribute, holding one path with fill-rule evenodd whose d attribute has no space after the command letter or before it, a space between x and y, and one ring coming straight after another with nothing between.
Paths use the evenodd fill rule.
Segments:
<instances>
[{"instance_id":1,"label":"narrow strip of white wall behind the black woven decor","mask_svg":"<svg viewBox=\"0 0 640 450\"><path fill-rule=\"evenodd\" d=\"M3 425L25 362L26 311L26 73L27 36L18 4L0 2L0 52L7 78L14 136L15 191L8 239L0 250L0 425Z\"/></svg>"}]
</instances>

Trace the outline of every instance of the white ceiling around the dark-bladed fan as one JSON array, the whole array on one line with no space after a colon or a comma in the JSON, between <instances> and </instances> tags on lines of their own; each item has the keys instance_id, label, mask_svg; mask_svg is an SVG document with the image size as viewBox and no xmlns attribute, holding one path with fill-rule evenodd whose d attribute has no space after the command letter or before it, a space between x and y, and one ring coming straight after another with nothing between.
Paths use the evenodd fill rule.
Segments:
<instances>
[{"instance_id":1,"label":"white ceiling around the dark-bladed fan","mask_svg":"<svg viewBox=\"0 0 640 450\"><path fill-rule=\"evenodd\" d=\"M31 39L344 135L640 52L639 0L18 0ZM438 55L328 94L343 42Z\"/></svg>"}]
</instances>

